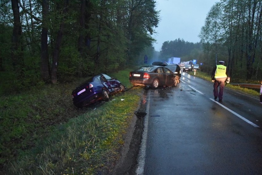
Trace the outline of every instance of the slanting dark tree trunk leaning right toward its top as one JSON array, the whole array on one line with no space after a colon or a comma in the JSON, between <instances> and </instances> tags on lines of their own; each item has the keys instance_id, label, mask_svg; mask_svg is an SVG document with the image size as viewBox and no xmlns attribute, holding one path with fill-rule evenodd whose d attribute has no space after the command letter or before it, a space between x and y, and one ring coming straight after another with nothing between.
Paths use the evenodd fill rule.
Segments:
<instances>
[{"instance_id":1,"label":"slanting dark tree trunk leaning right toward its top","mask_svg":"<svg viewBox=\"0 0 262 175\"><path fill-rule=\"evenodd\" d=\"M55 48L53 51L53 62L52 62L52 71L51 71L51 81L53 84L57 83L57 67L58 67L58 56L59 56L59 49L61 46L62 42L62 36L63 36L63 30L64 30L64 21L65 21L65 15L68 10L68 5L69 5L69 0L64 0L64 10L63 10L63 19L60 24L58 34L57 34L57 39L56 39L56 44Z\"/></svg>"}]
</instances>

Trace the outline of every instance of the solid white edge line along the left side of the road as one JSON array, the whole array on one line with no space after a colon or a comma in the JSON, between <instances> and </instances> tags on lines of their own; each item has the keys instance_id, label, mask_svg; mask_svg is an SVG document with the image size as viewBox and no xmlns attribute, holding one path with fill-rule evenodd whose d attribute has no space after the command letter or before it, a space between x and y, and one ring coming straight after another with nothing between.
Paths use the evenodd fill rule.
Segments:
<instances>
[{"instance_id":1,"label":"solid white edge line along the left side of the road","mask_svg":"<svg viewBox=\"0 0 262 175\"><path fill-rule=\"evenodd\" d=\"M150 96L150 91L149 91L149 96ZM145 121L144 121L144 131L142 134L142 140L141 140L141 147L139 149L138 153L138 165L136 169L136 174L137 175L143 175L144 174L144 168L145 168L145 152L146 152L146 142L147 142L147 132L148 132L148 116L149 116L149 104L150 100L147 101L147 106L146 106L146 115L145 115Z\"/></svg>"}]
</instances>

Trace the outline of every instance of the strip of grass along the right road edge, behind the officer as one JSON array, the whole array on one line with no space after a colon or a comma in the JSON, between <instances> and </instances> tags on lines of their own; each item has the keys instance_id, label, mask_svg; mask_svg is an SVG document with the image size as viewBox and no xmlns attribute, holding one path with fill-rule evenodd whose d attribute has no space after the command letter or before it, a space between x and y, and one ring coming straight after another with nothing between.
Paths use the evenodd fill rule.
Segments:
<instances>
[{"instance_id":1,"label":"strip of grass along the right road edge, behind the officer","mask_svg":"<svg viewBox=\"0 0 262 175\"><path fill-rule=\"evenodd\" d=\"M204 72L201 72L199 70L196 71L196 75L194 75L193 71L192 72L187 72L187 73L190 74L190 75L193 75L193 76L196 76L196 77L199 77L199 78L202 78L204 80L212 82L211 75L209 75L207 73L204 73ZM230 79L230 83L234 84L233 79ZM235 91L247 94L247 95L259 97L259 92L257 92L256 90L230 85L230 83L227 84L227 86L226 86L228 89L232 89L232 90L235 90Z\"/></svg>"}]
</instances>

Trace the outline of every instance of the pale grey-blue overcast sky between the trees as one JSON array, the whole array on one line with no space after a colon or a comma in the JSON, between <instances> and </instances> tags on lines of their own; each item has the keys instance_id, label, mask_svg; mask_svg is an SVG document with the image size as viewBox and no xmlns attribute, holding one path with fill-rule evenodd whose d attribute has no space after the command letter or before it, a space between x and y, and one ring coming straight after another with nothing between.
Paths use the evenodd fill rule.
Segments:
<instances>
[{"instance_id":1,"label":"pale grey-blue overcast sky between the trees","mask_svg":"<svg viewBox=\"0 0 262 175\"><path fill-rule=\"evenodd\" d=\"M157 40L154 48L161 50L165 41L184 39L186 42L200 42L198 34L204 26L205 18L219 0L156 0L160 12L160 22L155 29Z\"/></svg>"}]
</instances>

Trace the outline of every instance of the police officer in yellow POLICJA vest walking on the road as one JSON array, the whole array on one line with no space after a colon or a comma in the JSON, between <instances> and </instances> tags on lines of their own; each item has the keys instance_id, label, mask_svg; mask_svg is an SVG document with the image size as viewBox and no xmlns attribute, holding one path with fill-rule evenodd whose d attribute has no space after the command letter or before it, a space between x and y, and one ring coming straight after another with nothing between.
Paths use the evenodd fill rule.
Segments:
<instances>
[{"instance_id":1,"label":"police officer in yellow POLICJA vest walking on the road","mask_svg":"<svg viewBox=\"0 0 262 175\"><path fill-rule=\"evenodd\" d=\"M222 101L223 98L223 90L224 90L224 82L227 80L227 83L230 81L229 72L226 66L224 66L224 61L219 61L219 65L216 65L212 71L212 82L214 82L214 90L213 94L215 100L219 99ZM218 93L219 86L219 93Z\"/></svg>"}]
</instances>

